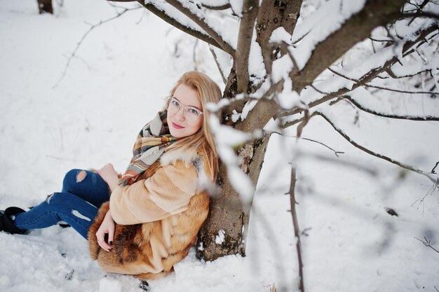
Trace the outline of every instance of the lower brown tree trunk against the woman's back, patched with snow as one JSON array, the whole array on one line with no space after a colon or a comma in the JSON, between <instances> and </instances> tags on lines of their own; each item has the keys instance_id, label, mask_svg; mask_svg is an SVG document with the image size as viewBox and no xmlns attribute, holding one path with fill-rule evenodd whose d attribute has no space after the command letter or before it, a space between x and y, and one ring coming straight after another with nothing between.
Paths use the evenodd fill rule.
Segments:
<instances>
[{"instance_id":1,"label":"lower brown tree trunk against the woman's back, patched with snow","mask_svg":"<svg viewBox=\"0 0 439 292\"><path fill-rule=\"evenodd\" d=\"M245 144L238 150L243 161L242 169L256 186L264 162L269 134ZM225 165L219 166L218 190L210 200L210 212L198 233L196 256L215 260L221 256L245 256L245 239L250 219L250 204L242 204L238 193L231 186Z\"/></svg>"}]
</instances>

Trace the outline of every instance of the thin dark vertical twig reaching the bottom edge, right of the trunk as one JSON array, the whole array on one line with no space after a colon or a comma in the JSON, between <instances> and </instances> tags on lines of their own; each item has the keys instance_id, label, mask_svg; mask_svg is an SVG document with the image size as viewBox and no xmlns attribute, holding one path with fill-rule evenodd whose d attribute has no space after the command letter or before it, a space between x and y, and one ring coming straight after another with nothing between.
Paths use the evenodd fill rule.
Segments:
<instances>
[{"instance_id":1,"label":"thin dark vertical twig reaching the bottom edge, right of the trunk","mask_svg":"<svg viewBox=\"0 0 439 292\"><path fill-rule=\"evenodd\" d=\"M295 188L296 188L296 169L295 166L291 166L291 182L290 182L290 207L291 207L291 216L292 216L292 225L294 226L295 230L295 237L297 238L296 241L296 251L297 251L297 261L299 262L299 290L304 292L304 270L303 270L303 260L302 260L302 244L300 242L300 229L299 229L299 222L297 220L297 211L296 211L296 194L295 194Z\"/></svg>"}]
</instances>

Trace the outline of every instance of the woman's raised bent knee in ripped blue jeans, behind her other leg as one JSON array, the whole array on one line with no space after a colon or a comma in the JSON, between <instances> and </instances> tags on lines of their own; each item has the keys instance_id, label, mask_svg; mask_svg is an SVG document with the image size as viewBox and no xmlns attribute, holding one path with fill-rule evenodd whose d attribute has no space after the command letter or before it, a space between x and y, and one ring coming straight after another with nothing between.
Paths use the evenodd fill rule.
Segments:
<instances>
[{"instance_id":1,"label":"woman's raised bent knee in ripped blue jeans, behind her other leg","mask_svg":"<svg viewBox=\"0 0 439 292\"><path fill-rule=\"evenodd\" d=\"M99 174L88 170L72 169L62 181L62 193L71 193L90 202L95 207L109 200L108 184Z\"/></svg>"}]
</instances>

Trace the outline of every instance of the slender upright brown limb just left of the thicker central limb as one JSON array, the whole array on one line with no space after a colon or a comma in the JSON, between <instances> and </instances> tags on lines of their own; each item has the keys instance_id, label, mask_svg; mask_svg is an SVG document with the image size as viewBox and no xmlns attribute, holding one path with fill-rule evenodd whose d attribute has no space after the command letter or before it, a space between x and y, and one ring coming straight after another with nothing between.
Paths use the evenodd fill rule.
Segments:
<instances>
[{"instance_id":1,"label":"slender upright brown limb just left of the thicker central limb","mask_svg":"<svg viewBox=\"0 0 439 292\"><path fill-rule=\"evenodd\" d=\"M245 0L243 3L243 16L239 24L238 44L235 55L238 92L247 93L249 88L248 58L258 8L259 0Z\"/></svg>"}]
</instances>

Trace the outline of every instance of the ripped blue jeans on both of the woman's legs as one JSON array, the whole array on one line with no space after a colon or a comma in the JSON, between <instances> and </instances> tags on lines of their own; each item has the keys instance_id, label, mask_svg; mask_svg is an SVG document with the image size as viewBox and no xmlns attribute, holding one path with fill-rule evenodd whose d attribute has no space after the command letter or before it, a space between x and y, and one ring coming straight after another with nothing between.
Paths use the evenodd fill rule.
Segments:
<instances>
[{"instance_id":1,"label":"ripped blue jeans on both of the woman's legs","mask_svg":"<svg viewBox=\"0 0 439 292\"><path fill-rule=\"evenodd\" d=\"M61 193L48 195L38 206L16 215L14 223L20 229L36 229L64 221L87 239L88 228L109 195L109 186L99 174L72 169L65 175Z\"/></svg>"}]
</instances>

